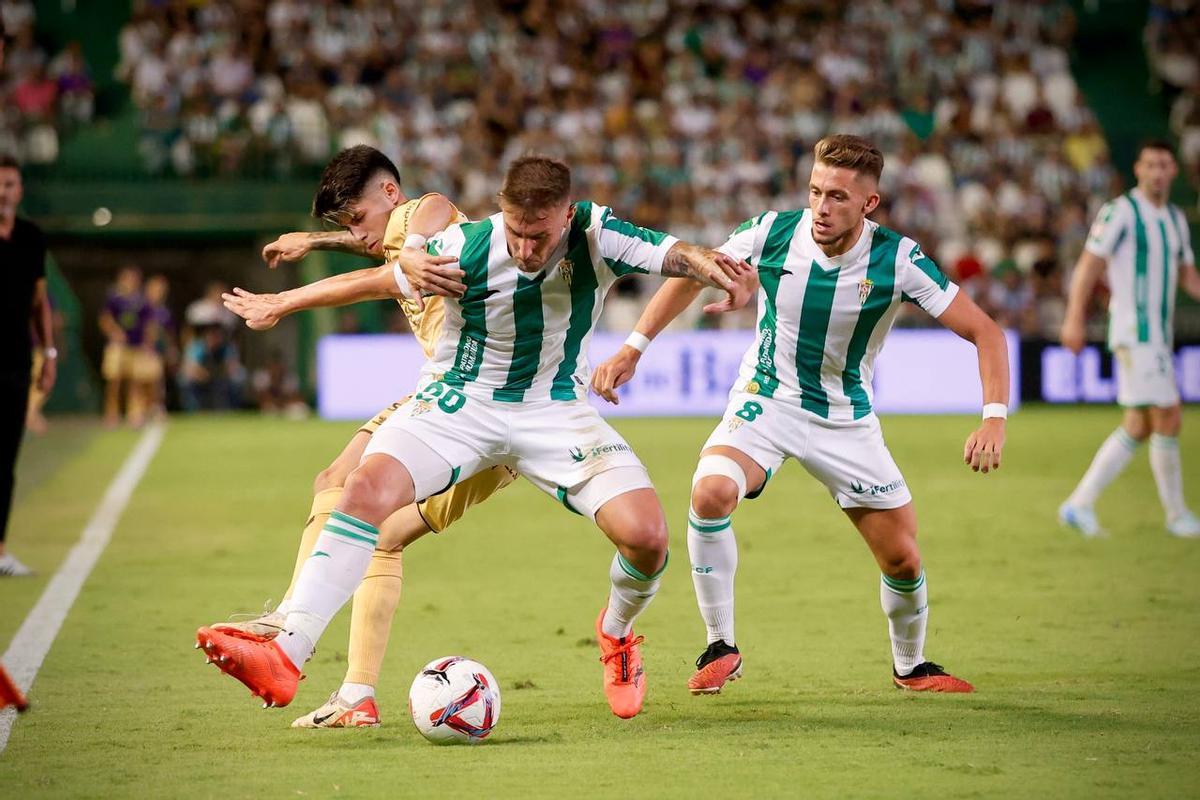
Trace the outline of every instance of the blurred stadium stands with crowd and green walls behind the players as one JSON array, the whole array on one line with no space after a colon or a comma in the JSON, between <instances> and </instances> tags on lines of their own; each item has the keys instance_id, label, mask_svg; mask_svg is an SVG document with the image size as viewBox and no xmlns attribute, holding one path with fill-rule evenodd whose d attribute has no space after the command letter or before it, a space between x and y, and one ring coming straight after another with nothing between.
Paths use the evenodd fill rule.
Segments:
<instances>
[{"instance_id":1,"label":"blurred stadium stands with crowd and green walls behind the players","mask_svg":"<svg viewBox=\"0 0 1200 800\"><path fill-rule=\"evenodd\" d=\"M317 253L276 273L258 257L316 225L322 166L359 143L391 156L410 193L444 192L473 216L492 210L514 156L562 155L578 197L715 246L750 213L805 204L821 136L865 134L887 157L874 218L920 241L1020 337L1026 401L1112 397L1102 351L1076 366L1044 349L1091 218L1130 185L1140 139L1178 143L1174 199L1198 221L1196 2L2 0L0 12L0 150L24 163L65 329L50 411L100 405L97 315L122 265L169 282L173 409L202 324L227 326L245 368L238 404L294 410L317 399L323 336L403 331L395 306L376 303L246 336L204 300L217 284L278 290L364 265ZM628 331L650 291L619 287L604 327ZM1104 300L1102 288L1097 311ZM1200 308L1180 306L1195 401ZM1092 321L1099 342L1103 314ZM752 315L695 311L683 326Z\"/></svg>"}]
</instances>

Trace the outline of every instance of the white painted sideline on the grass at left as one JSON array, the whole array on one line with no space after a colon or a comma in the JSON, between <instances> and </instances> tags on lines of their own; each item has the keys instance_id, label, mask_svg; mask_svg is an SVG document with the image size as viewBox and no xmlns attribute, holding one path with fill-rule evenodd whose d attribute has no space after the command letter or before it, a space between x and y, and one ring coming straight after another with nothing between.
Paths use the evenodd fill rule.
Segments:
<instances>
[{"instance_id":1,"label":"white painted sideline on the grass at left","mask_svg":"<svg viewBox=\"0 0 1200 800\"><path fill-rule=\"evenodd\" d=\"M76 597L79 596L84 581L91 575L91 569L96 566L101 553L113 537L113 529L116 528L133 489L150 467L166 429L162 422L151 422L146 426L133 452L121 465L121 471L108 485L108 491L88 521L88 527L83 529L79 542L71 548L58 572L46 584L37 604L29 612L29 616L12 637L8 650L0 657L0 662L23 693L28 693L34 685L46 654L54 644L54 638L59 634L59 628L62 627ZM16 717L17 709L12 706L0 711L0 754L8 746Z\"/></svg>"}]
</instances>

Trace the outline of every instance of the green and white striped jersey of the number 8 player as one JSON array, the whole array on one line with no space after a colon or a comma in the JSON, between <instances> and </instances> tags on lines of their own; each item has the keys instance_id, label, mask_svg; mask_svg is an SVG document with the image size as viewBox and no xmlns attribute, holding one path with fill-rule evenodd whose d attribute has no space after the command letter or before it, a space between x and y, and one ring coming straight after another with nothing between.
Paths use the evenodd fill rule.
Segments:
<instances>
[{"instance_id":1,"label":"green and white striped jersey of the number 8 player","mask_svg":"<svg viewBox=\"0 0 1200 800\"><path fill-rule=\"evenodd\" d=\"M833 421L871 413L875 356L900 302L941 315L958 287L920 246L870 219L858 242L827 257L808 209L748 219L720 251L758 270L758 337L734 391L799 403Z\"/></svg>"}]
</instances>

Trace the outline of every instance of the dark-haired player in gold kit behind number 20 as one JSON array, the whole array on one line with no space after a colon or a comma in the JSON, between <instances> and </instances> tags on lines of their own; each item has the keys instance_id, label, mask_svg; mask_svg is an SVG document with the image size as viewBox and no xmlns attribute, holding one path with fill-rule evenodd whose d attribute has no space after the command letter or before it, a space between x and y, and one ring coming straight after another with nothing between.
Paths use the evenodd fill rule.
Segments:
<instances>
[{"instance_id":1,"label":"dark-haired player in gold kit behind number 20","mask_svg":"<svg viewBox=\"0 0 1200 800\"><path fill-rule=\"evenodd\" d=\"M376 269L335 276L307 287L280 294L259 295L234 289L226 295L226 306L246 319L254 330L274 326L283 317L317 306L347 305L372 297L395 297L398 275L412 287L412 299L397 301L408 318L414 336L428 356L442 327L442 291L458 294L461 270L452 259L427 255L425 239L467 217L442 194L424 194L408 199L401 190L395 164L382 152L367 146L343 150L325 168L313 199L313 216L331 222L337 231L289 233L263 249L263 259L275 267L281 261L295 261L313 249L337 249L386 263ZM406 242L408 247L406 248ZM371 435L384 420L400 408L400 401L383 409L355 432L346 447L313 482L312 509L300 537L292 585L280 606L246 622L222 622L221 627L250 634L274 637L283 616L290 610L292 589L305 561L313 554L313 543L342 495L347 475L358 465ZM430 531L445 530L468 507L481 503L516 477L508 468L497 467L463 481L443 494L401 509L383 524L379 543L371 559L366 578L354 594L350 614L348 669L342 686L329 702L298 718L298 728L376 727L379 709L374 686L388 649L391 621L400 603L403 579L401 552L404 546ZM216 626L215 626L216 627Z\"/></svg>"}]
</instances>

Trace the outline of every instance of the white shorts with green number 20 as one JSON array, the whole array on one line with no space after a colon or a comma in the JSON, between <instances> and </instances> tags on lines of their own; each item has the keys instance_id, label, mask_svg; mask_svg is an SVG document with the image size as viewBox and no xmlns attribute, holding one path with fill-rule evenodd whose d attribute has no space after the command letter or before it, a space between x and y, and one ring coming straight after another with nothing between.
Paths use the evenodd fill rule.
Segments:
<instances>
[{"instance_id":1,"label":"white shorts with green number 20","mask_svg":"<svg viewBox=\"0 0 1200 800\"><path fill-rule=\"evenodd\" d=\"M374 453L409 468L418 501L496 464L592 518L618 494L653 488L629 444L588 403L502 403L440 381L379 426L362 456Z\"/></svg>"}]
</instances>

